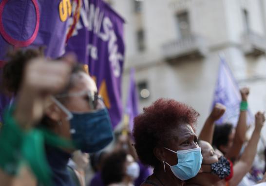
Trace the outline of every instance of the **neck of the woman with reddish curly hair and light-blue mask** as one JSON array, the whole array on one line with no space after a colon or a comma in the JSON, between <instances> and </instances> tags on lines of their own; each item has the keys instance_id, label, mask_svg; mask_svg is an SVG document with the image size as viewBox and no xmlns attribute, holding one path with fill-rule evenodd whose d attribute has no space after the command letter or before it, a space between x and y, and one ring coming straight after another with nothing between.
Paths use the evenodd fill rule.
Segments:
<instances>
[{"instance_id":1,"label":"neck of the woman with reddish curly hair and light-blue mask","mask_svg":"<svg viewBox=\"0 0 266 186\"><path fill-rule=\"evenodd\" d=\"M165 172L162 167L154 168L153 175L162 186L183 186L184 183L173 175L172 172Z\"/></svg>"}]
</instances>

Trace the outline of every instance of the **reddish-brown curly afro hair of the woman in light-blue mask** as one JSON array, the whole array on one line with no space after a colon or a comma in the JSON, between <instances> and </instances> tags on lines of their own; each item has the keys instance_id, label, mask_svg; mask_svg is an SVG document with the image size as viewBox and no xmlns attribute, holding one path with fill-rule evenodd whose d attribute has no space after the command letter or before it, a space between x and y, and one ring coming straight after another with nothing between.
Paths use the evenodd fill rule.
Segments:
<instances>
[{"instance_id":1,"label":"reddish-brown curly afro hair of the woman in light-blue mask","mask_svg":"<svg viewBox=\"0 0 266 186\"><path fill-rule=\"evenodd\" d=\"M198 116L193 108L173 99L160 98L143 108L143 113L134 118L133 128L135 149L141 162L156 167L160 162L153 149L165 146L171 138L171 130L179 125L190 124L195 131Z\"/></svg>"}]
</instances>

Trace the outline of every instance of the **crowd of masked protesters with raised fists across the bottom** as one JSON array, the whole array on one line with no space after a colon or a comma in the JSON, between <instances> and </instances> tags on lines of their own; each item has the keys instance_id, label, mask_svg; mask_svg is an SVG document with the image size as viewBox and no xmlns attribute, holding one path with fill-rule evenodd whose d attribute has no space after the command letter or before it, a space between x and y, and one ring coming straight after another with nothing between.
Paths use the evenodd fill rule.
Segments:
<instances>
[{"instance_id":1,"label":"crowd of masked protesters with raised fists across the bottom","mask_svg":"<svg viewBox=\"0 0 266 186\"><path fill-rule=\"evenodd\" d=\"M160 98L111 127L95 81L74 55L52 60L18 50L3 67L1 89L14 97L0 129L0 186L252 186L266 182L257 152L265 113L247 125L248 88L238 123L215 124L216 104L197 136L199 113ZM248 136L248 130L253 130Z\"/></svg>"}]
</instances>

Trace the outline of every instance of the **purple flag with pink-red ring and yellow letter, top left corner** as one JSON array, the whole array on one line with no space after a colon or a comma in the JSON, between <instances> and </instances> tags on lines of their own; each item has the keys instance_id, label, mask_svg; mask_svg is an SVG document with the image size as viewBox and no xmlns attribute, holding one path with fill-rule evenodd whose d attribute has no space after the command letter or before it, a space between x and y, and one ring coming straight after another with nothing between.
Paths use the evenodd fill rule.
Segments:
<instances>
[{"instance_id":1,"label":"purple flag with pink-red ring and yellow letter, top left corner","mask_svg":"<svg viewBox=\"0 0 266 186\"><path fill-rule=\"evenodd\" d=\"M46 56L64 53L72 0L0 0L0 60L20 47L45 47Z\"/></svg>"}]
</instances>

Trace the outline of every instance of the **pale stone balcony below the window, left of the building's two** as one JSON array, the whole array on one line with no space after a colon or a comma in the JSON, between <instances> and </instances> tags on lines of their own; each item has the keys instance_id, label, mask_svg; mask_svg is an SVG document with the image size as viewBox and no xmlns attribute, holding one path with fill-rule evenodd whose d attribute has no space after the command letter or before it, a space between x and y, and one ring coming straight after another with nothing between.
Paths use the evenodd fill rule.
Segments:
<instances>
[{"instance_id":1,"label":"pale stone balcony below the window, left of the building's two","mask_svg":"<svg viewBox=\"0 0 266 186\"><path fill-rule=\"evenodd\" d=\"M167 60L204 57L207 54L207 46L204 39L195 35L170 41L163 45L162 50Z\"/></svg>"}]
</instances>

